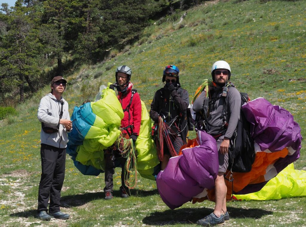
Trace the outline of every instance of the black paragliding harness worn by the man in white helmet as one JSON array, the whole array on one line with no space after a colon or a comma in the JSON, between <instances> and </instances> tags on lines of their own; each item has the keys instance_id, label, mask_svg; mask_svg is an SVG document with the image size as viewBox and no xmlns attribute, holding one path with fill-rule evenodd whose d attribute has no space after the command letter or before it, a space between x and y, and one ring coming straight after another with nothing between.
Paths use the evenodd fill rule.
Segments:
<instances>
[{"instance_id":1,"label":"black paragliding harness worn by the man in white helmet","mask_svg":"<svg viewBox=\"0 0 306 227\"><path fill-rule=\"evenodd\" d=\"M204 113L196 114L196 123L197 128L204 129L206 125L210 127L219 127L222 129L220 134L212 135L215 139L218 139L220 136L224 135L227 130L227 102L228 99L226 98L228 89L230 87L234 87L233 84L230 84L229 87L224 87L222 91L222 95L217 97L216 99L209 100L209 98L204 99L204 106L203 110ZM247 93L240 92L241 95L241 106L245 103L250 101L250 98ZM222 110L222 119L223 123L220 125L211 125L208 123L207 120L207 112L208 106L215 102L220 98L225 98L225 103L223 105ZM201 118L201 120L200 120ZM202 128L201 128L202 127ZM232 138L230 138L230 146L229 146L229 166L228 170L231 172L250 172L252 169L252 164L255 160L255 150L254 150L254 140L250 134L250 124L246 120L242 110L240 109L240 118L237 123L237 127L233 133ZM232 176L232 175L231 175ZM230 176L230 178L231 178ZM230 181L233 179L229 179Z\"/></svg>"}]
</instances>

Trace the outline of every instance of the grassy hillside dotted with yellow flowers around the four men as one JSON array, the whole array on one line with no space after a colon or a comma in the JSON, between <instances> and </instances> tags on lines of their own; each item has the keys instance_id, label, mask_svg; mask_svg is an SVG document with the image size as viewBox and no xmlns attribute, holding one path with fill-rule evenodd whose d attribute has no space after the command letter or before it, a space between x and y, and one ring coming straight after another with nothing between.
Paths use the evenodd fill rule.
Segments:
<instances>
[{"instance_id":1,"label":"grassy hillside dotted with yellow flowers around the four men","mask_svg":"<svg viewBox=\"0 0 306 227\"><path fill-rule=\"evenodd\" d=\"M140 40L114 58L82 66L68 77L64 98L70 115L75 105L94 100L101 84L114 81L116 66L132 69L131 81L147 108L162 86L168 64L180 69L180 82L192 98L212 64L229 62L231 79L251 98L264 97L289 110L306 136L306 2L212 1L169 18L152 21ZM176 20L175 20L176 19ZM118 51L114 51L118 52ZM155 181L139 177L132 196L119 196L121 169L114 176L114 199L104 200L104 175L84 176L67 156L62 211L68 220L35 218L40 180L39 100L45 88L18 106L19 115L0 123L0 226L196 226L212 212L213 202L188 202L170 210L160 199ZM191 137L194 137L191 133ZM302 141L296 169L306 170ZM226 226L306 226L306 197L273 201L228 202Z\"/></svg>"}]
</instances>

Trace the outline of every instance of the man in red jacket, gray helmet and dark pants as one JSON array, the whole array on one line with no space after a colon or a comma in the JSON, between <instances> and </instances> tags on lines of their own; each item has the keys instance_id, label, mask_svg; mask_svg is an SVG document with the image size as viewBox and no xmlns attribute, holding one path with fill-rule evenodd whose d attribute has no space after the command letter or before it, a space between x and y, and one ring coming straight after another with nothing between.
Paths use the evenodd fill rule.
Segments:
<instances>
[{"instance_id":1,"label":"man in red jacket, gray helmet and dark pants","mask_svg":"<svg viewBox=\"0 0 306 227\"><path fill-rule=\"evenodd\" d=\"M139 135L141 122L141 102L140 96L136 90L132 89L133 84L130 82L132 70L128 66L119 66L116 69L116 83L110 85L110 89L117 89L119 92L118 100L121 103L124 117L121 120L121 131L124 138L132 139L136 142ZM107 149L104 154L106 160L105 167L105 199L113 198L113 174L115 170L115 159L122 166L120 193L122 198L127 198L128 187L124 183L124 166L126 158L122 157L118 150Z\"/></svg>"}]
</instances>

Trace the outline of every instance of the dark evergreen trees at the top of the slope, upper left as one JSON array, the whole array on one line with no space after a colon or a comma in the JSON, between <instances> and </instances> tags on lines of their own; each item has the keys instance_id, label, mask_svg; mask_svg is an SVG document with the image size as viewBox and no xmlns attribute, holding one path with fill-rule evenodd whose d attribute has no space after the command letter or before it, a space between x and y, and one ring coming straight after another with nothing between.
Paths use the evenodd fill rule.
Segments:
<instances>
[{"instance_id":1,"label":"dark evergreen trees at the top of the slope, upper left","mask_svg":"<svg viewBox=\"0 0 306 227\"><path fill-rule=\"evenodd\" d=\"M64 63L95 63L110 48L131 44L167 6L168 0L17 0L10 8L2 3L0 102L18 93L23 101L24 92L63 75ZM57 61L52 75L43 73L49 59Z\"/></svg>"}]
</instances>

